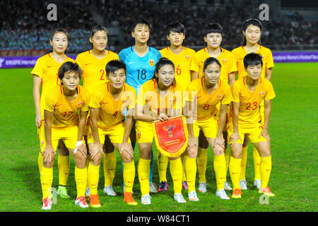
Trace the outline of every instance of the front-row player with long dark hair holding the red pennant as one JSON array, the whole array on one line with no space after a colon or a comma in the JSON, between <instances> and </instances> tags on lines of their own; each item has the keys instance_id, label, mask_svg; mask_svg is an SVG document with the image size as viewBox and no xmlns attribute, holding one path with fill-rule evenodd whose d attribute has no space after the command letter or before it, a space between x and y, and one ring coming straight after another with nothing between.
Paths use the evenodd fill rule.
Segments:
<instances>
[{"instance_id":1,"label":"front-row player with long dark hair holding the red pennant","mask_svg":"<svg viewBox=\"0 0 318 226\"><path fill-rule=\"evenodd\" d=\"M140 149L138 177L141 186L141 203L151 204L149 172L153 146L153 121L164 121L171 115L182 114L182 88L175 82L175 65L161 58L155 66L153 78L141 85L137 97L136 137ZM173 179L175 201L185 203L182 190L182 162L179 157L170 158L170 174Z\"/></svg>"}]
</instances>

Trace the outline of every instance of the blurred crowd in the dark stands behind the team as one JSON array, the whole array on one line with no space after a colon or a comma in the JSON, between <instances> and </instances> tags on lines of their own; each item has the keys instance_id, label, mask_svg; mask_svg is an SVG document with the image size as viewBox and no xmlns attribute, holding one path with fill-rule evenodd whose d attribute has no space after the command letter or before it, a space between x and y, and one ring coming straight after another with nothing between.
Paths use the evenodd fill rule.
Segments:
<instances>
[{"instance_id":1,"label":"blurred crowd in the dark stands behind the team","mask_svg":"<svg viewBox=\"0 0 318 226\"><path fill-rule=\"evenodd\" d=\"M184 45L203 47L204 26L218 22L223 26L222 46L233 49L242 44L242 23L247 18L258 18L259 8L250 0L240 5L228 6L182 6L179 1L169 4L155 1L109 1L96 0L93 6L89 1L56 1L57 21L47 20L47 5L54 1L0 1L0 50L10 49L50 49L49 34L54 28L69 31L67 52L78 53L90 48L89 33L94 13L100 15L107 27L119 27L123 41L116 42L108 49L119 52L123 47L134 44L131 37L131 24L136 18L146 18L151 22L153 47L165 47L166 25L179 20L186 27ZM261 42L271 49L298 49L303 45L317 45L317 21L304 20L297 12L288 18L269 17L262 21L264 26Z\"/></svg>"}]
</instances>

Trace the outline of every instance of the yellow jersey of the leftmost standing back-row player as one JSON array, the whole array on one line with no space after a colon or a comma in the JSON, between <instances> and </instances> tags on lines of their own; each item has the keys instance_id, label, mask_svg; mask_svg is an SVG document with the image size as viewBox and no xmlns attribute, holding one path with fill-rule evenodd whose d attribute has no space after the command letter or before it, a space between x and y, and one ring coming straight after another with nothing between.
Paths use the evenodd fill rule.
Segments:
<instances>
[{"instance_id":1,"label":"yellow jersey of the leftmost standing back-row player","mask_svg":"<svg viewBox=\"0 0 318 226\"><path fill-rule=\"evenodd\" d=\"M59 71L59 67L67 61L74 62L73 59L65 55L65 60L61 63L58 63L52 57L52 54L46 54L43 57L37 59L37 62L31 71L32 75L39 76L42 79L42 93L40 97L40 112L42 117L44 117L45 93L47 93L48 90L51 90L55 85L61 83L57 73Z\"/></svg>"}]
</instances>

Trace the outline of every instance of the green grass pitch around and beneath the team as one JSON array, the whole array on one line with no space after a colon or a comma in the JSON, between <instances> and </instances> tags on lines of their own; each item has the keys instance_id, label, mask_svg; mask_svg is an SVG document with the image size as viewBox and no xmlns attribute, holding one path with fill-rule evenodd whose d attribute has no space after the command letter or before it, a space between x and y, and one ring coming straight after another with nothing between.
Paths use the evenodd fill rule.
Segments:
<instances>
[{"instance_id":1,"label":"green grass pitch around and beneath the team","mask_svg":"<svg viewBox=\"0 0 318 226\"><path fill-rule=\"evenodd\" d=\"M33 105L33 78L31 69L1 69L1 111L0 124L0 197L1 212L43 211L40 175L37 169L37 154L40 150L35 128L35 110ZM247 160L247 191L241 199L231 198L223 201L216 198L216 181L213 172L213 155L208 153L207 181L208 192L201 194L199 202L178 204L173 200L172 180L167 170L168 191L163 194L151 194L152 204L143 206L140 198L140 186L136 170L134 198L138 206L127 206L123 202L122 165L117 153L117 169L114 179L116 197L102 193L104 176L100 167L98 193L102 208L81 209L74 205L76 184L74 163L71 157L71 169L67 188L70 198L58 198L57 205L51 211L136 211L136 212L218 212L218 211L313 211L318 210L317 198L317 84L318 64L276 64L273 68L272 83L276 98L272 101L270 121L271 152L273 168L269 186L275 197L268 204L259 202L260 195L254 189L254 167L252 145L249 145ZM157 150L154 150L156 153ZM135 150L135 164L139 159L138 146ZM56 160L57 162L57 160ZM153 182L158 182L158 167L153 168ZM54 182L57 188L58 169L54 166ZM230 177L228 176L228 182ZM196 182L196 187L198 182ZM182 190L187 199L187 191ZM230 192L228 192L230 195Z\"/></svg>"}]
</instances>

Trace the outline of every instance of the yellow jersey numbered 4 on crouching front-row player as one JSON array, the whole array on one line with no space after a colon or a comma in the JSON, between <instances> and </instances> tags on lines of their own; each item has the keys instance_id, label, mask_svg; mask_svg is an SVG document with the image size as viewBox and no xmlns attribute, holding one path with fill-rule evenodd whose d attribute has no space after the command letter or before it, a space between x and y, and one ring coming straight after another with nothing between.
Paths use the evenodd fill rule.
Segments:
<instances>
[{"instance_id":1,"label":"yellow jersey numbered 4 on crouching front-row player","mask_svg":"<svg viewBox=\"0 0 318 226\"><path fill-rule=\"evenodd\" d=\"M126 107L133 109L136 104L136 90L130 85L124 84L122 93L115 100L110 93L110 83L104 83L96 88L90 97L90 107L98 108L98 127L110 131L117 124L125 120L122 112Z\"/></svg>"}]
</instances>

